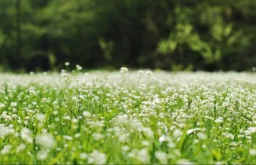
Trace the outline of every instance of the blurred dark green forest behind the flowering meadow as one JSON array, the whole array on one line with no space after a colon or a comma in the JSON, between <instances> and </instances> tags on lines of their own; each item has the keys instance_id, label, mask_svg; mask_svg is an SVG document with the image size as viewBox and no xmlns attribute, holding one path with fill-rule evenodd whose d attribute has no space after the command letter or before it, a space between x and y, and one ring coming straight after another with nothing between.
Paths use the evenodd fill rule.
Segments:
<instances>
[{"instance_id":1,"label":"blurred dark green forest behind the flowering meadow","mask_svg":"<svg viewBox=\"0 0 256 165\"><path fill-rule=\"evenodd\" d=\"M0 0L0 71L249 71L255 0Z\"/></svg>"}]
</instances>

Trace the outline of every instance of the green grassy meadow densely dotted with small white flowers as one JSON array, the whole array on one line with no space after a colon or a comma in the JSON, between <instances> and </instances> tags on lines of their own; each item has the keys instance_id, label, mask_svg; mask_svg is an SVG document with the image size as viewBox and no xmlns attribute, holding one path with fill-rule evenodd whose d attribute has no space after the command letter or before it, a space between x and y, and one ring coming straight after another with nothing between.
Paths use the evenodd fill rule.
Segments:
<instances>
[{"instance_id":1,"label":"green grassy meadow densely dotted with small white flowers","mask_svg":"<svg viewBox=\"0 0 256 165\"><path fill-rule=\"evenodd\" d=\"M0 163L256 163L256 74L0 74Z\"/></svg>"}]
</instances>

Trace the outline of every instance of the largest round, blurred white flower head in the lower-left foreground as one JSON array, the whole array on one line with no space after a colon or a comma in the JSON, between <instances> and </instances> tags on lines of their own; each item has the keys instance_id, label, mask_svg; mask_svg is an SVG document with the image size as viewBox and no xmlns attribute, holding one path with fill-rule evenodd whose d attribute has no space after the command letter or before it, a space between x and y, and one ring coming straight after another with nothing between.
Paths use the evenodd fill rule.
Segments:
<instances>
[{"instance_id":1,"label":"largest round, blurred white flower head in the lower-left foreground","mask_svg":"<svg viewBox=\"0 0 256 165\"><path fill-rule=\"evenodd\" d=\"M53 148L55 146L55 139L52 134L43 133L38 135L37 143L44 148Z\"/></svg>"}]
</instances>

